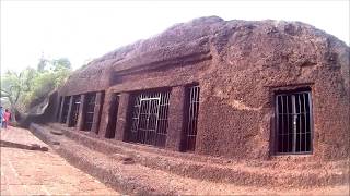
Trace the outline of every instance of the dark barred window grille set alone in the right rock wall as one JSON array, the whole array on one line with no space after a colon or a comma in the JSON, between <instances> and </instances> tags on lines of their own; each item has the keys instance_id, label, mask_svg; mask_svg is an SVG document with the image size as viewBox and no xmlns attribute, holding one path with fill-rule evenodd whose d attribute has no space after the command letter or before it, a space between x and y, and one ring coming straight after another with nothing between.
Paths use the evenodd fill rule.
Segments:
<instances>
[{"instance_id":1,"label":"dark barred window grille set alone in the right rock wall","mask_svg":"<svg viewBox=\"0 0 350 196\"><path fill-rule=\"evenodd\" d=\"M312 98L310 91L276 96L277 152L312 151Z\"/></svg>"}]
</instances>

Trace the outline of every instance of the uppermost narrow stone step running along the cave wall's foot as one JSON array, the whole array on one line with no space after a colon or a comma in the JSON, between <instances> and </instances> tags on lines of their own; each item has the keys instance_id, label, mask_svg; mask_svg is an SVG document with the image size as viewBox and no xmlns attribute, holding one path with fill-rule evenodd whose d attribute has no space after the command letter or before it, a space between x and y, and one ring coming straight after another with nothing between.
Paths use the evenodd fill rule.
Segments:
<instances>
[{"instance_id":1,"label":"uppermost narrow stone step running along the cave wall's foot","mask_svg":"<svg viewBox=\"0 0 350 196\"><path fill-rule=\"evenodd\" d=\"M150 152L155 156L162 156L165 158L179 158L179 159L187 159L194 162L208 162L208 163L217 163L220 166L234 166L237 167L242 164L242 162L252 168L278 168L279 170L285 170L287 172L290 170L304 170L306 169L319 169L320 171L330 170L330 169L348 169L348 160L342 161L331 161L329 164L322 163L319 161L301 161L300 158L291 158L289 157L287 160L281 158L273 158L269 161L261 161L261 160L248 160L248 161L234 161L232 159L222 158L222 157L210 157L210 156L202 156L196 155L190 152L179 152L173 150L166 150L162 148L158 148L154 146L142 145L142 144L132 144L132 143L125 143L116 139L108 139L108 138L100 138L95 134L90 132L78 132L73 128L62 126L59 123L50 123L48 124L49 127L52 130L60 130L65 132L66 136L73 138L75 140L82 142L84 145L90 146L92 149L98 150L101 152L109 154L110 151L124 151L125 154L132 154L132 152ZM97 143L95 143L97 140ZM90 145L93 144L93 145ZM107 145L107 146L106 146ZM109 148L110 146L113 148ZM113 146L114 145L114 146ZM299 156L301 157L301 156Z\"/></svg>"}]
</instances>

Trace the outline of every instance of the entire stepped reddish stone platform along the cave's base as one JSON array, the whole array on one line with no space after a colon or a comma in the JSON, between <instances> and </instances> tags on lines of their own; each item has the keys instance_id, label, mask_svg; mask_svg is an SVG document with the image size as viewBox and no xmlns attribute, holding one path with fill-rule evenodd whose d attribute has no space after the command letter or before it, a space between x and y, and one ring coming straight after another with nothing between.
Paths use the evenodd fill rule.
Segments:
<instances>
[{"instance_id":1,"label":"entire stepped reddish stone platform along the cave's base","mask_svg":"<svg viewBox=\"0 0 350 196\"><path fill-rule=\"evenodd\" d=\"M32 124L31 131L79 169L127 194L349 193L347 161L233 161L96 138L60 124Z\"/></svg>"}]
</instances>

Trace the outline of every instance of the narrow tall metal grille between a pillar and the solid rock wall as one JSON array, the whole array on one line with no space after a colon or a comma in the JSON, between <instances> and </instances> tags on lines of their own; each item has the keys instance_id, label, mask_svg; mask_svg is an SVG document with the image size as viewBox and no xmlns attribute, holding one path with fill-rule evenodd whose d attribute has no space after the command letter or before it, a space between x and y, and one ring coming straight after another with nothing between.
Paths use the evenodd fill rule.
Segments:
<instances>
[{"instance_id":1,"label":"narrow tall metal grille between a pillar and the solid rock wall","mask_svg":"<svg viewBox=\"0 0 350 196\"><path fill-rule=\"evenodd\" d=\"M199 111L199 86L187 88L187 126L186 126L186 150L194 151L196 148L197 123Z\"/></svg>"}]
</instances>

